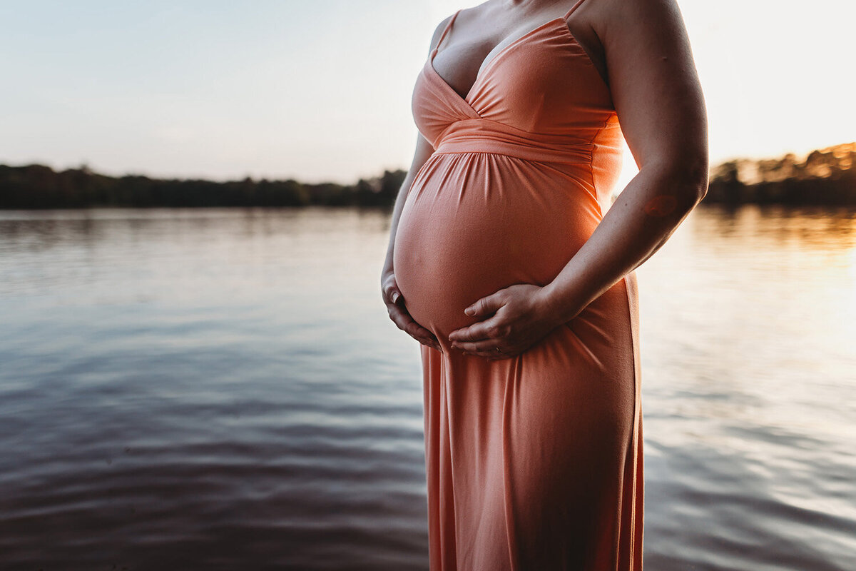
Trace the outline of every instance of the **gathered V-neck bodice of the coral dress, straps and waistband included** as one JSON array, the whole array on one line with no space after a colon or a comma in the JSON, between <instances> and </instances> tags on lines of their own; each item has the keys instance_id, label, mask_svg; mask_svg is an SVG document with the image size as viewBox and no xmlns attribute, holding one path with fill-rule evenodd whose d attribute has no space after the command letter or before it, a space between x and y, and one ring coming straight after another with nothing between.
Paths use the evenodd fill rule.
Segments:
<instances>
[{"instance_id":1,"label":"gathered V-neck bodice of the coral dress, straps and waistband included","mask_svg":"<svg viewBox=\"0 0 856 571\"><path fill-rule=\"evenodd\" d=\"M456 12L413 88L413 119L431 146L450 151L460 143L563 162L569 158L563 155L578 155L580 145L591 144L604 127L620 137L609 86L568 28L568 15L581 1L565 16L495 48L466 97L434 67Z\"/></svg>"}]
</instances>

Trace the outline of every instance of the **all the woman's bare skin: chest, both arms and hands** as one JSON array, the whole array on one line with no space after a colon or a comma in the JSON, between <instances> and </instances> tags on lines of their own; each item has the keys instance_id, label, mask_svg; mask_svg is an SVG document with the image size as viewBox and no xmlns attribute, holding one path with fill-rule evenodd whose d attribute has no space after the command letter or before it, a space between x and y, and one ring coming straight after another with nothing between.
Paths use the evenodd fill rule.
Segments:
<instances>
[{"instance_id":1,"label":"all the woman's bare skin: chest, both arms and hands","mask_svg":"<svg viewBox=\"0 0 856 571\"><path fill-rule=\"evenodd\" d=\"M466 94L486 59L574 2L489 0L461 10L435 67L455 91ZM447 21L437 27L431 50ZM676 0L587 0L574 10L568 28L609 84L639 173L551 283L515 284L473 300L466 312L480 321L449 334L452 347L467 354L506 359L532 347L657 252L707 192L707 113ZM431 331L407 313L392 265L407 189L431 152L419 135L395 201L382 285L395 324L439 349Z\"/></svg>"}]
</instances>

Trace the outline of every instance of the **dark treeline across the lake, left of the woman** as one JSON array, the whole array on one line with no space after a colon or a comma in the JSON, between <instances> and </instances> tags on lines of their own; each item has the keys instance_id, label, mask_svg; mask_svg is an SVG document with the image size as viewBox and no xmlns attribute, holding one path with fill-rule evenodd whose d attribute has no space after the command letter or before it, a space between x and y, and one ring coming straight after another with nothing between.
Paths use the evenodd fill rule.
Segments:
<instances>
[{"instance_id":1,"label":"dark treeline across the lake, left of the woman","mask_svg":"<svg viewBox=\"0 0 856 571\"><path fill-rule=\"evenodd\" d=\"M407 172L385 170L353 185L306 184L245 178L241 181L108 176L80 169L52 170L41 164L0 165L0 208L94 206L388 206Z\"/></svg>"}]
</instances>

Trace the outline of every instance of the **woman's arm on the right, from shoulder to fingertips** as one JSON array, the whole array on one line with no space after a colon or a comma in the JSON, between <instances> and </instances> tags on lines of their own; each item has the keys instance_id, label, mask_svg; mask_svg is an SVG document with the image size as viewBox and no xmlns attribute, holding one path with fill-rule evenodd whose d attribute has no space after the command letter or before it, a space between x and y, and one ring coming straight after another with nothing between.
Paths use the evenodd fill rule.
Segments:
<instances>
[{"instance_id":1,"label":"woman's arm on the right, from shoulder to fingertips","mask_svg":"<svg viewBox=\"0 0 856 571\"><path fill-rule=\"evenodd\" d=\"M675 0L595 5L613 103L639 174L553 282L513 285L467 308L484 320L449 335L466 353L496 359L531 347L657 252L707 192L704 96Z\"/></svg>"}]
</instances>

